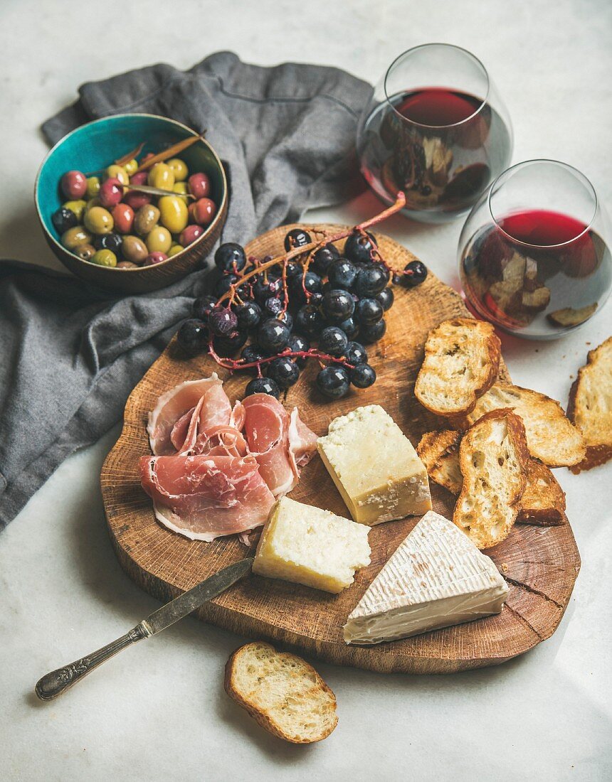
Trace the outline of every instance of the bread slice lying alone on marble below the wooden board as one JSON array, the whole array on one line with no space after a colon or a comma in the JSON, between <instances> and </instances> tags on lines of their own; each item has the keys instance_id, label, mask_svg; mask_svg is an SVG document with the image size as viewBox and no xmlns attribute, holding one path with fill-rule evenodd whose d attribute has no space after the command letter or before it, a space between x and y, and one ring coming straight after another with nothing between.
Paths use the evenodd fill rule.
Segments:
<instances>
[{"instance_id":1,"label":"bread slice lying alone on marble below the wooden board","mask_svg":"<svg viewBox=\"0 0 612 782\"><path fill-rule=\"evenodd\" d=\"M265 730L293 744L321 741L338 723L336 696L315 669L261 641L229 658L225 691Z\"/></svg>"}]
</instances>

